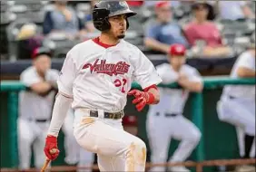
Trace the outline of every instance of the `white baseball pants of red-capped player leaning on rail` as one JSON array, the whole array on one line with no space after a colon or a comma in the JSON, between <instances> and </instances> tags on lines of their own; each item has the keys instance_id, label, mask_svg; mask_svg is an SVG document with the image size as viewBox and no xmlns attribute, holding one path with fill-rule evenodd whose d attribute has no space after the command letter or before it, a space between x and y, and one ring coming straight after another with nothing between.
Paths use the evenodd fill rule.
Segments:
<instances>
[{"instance_id":1,"label":"white baseball pants of red-capped player leaning on rail","mask_svg":"<svg viewBox=\"0 0 256 172\"><path fill-rule=\"evenodd\" d=\"M166 162L171 139L181 140L179 147L170 159L182 162L188 158L201 139L201 132L182 115L166 117L163 112L150 110L146 121L147 134L151 146L153 164ZM164 167L153 167L151 171L164 171Z\"/></svg>"}]
</instances>

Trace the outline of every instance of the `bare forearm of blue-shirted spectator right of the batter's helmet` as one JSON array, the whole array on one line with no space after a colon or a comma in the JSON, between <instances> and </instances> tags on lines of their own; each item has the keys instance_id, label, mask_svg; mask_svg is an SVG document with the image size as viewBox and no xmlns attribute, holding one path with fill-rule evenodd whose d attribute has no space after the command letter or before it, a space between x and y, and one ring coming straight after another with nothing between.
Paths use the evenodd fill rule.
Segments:
<instances>
[{"instance_id":1,"label":"bare forearm of blue-shirted spectator right of the batter's helmet","mask_svg":"<svg viewBox=\"0 0 256 172\"><path fill-rule=\"evenodd\" d=\"M152 38L145 38L145 45L155 51L160 51L162 53L168 53L170 49L170 45L165 43L160 43Z\"/></svg>"}]
</instances>

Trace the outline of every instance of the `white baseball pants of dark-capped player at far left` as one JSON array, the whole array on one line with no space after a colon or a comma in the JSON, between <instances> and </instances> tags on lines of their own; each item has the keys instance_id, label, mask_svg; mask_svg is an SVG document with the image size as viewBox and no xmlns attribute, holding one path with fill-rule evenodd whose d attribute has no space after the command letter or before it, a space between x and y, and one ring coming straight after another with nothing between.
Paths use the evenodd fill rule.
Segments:
<instances>
[{"instance_id":1,"label":"white baseball pants of dark-capped player at far left","mask_svg":"<svg viewBox=\"0 0 256 172\"><path fill-rule=\"evenodd\" d=\"M29 169L31 164L31 146L34 151L34 166L41 168L44 165L45 137L50 122L35 122L28 119L17 119L19 168Z\"/></svg>"}]
</instances>

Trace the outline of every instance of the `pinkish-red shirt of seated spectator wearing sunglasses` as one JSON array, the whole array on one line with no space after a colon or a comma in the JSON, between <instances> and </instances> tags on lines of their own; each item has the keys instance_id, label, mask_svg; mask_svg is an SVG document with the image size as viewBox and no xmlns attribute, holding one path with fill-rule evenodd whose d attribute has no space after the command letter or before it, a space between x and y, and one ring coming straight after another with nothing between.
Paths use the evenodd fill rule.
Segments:
<instances>
[{"instance_id":1,"label":"pinkish-red shirt of seated spectator wearing sunglasses","mask_svg":"<svg viewBox=\"0 0 256 172\"><path fill-rule=\"evenodd\" d=\"M196 24L192 22L185 29L188 42L192 45L196 40L204 40L208 46L217 47L222 45L222 36L217 26L211 22Z\"/></svg>"}]
</instances>

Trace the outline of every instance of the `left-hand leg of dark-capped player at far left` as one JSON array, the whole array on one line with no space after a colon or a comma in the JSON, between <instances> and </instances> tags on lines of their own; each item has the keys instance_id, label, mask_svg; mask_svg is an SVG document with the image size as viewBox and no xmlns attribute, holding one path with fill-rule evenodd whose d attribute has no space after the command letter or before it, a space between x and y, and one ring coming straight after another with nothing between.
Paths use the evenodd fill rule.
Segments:
<instances>
[{"instance_id":1,"label":"left-hand leg of dark-capped player at far left","mask_svg":"<svg viewBox=\"0 0 256 172\"><path fill-rule=\"evenodd\" d=\"M34 129L31 122L26 119L18 119L18 154L19 168L30 168L31 145L34 141Z\"/></svg>"}]
</instances>

